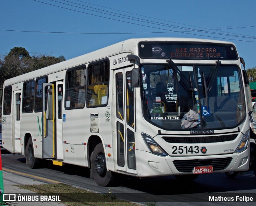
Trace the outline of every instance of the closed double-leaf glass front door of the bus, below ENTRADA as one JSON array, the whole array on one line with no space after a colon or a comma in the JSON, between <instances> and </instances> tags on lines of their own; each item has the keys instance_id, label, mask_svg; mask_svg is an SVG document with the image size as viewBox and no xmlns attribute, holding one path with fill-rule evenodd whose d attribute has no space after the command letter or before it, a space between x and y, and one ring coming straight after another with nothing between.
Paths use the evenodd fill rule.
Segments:
<instances>
[{"instance_id":1,"label":"closed double-leaf glass front door of the bus, below ENTRADA","mask_svg":"<svg viewBox=\"0 0 256 206\"><path fill-rule=\"evenodd\" d=\"M116 169L137 173L134 137L134 88L131 85L132 67L114 71L113 81L113 147Z\"/></svg>"}]
</instances>

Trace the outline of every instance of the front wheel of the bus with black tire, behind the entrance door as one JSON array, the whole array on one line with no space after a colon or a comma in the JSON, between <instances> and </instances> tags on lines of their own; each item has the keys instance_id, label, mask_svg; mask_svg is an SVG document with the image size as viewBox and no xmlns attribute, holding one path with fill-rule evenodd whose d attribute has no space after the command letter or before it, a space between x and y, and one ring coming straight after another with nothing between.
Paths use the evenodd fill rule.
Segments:
<instances>
[{"instance_id":1,"label":"front wheel of the bus with black tire, behind the entrance door","mask_svg":"<svg viewBox=\"0 0 256 206\"><path fill-rule=\"evenodd\" d=\"M112 172L107 170L106 156L102 143L96 145L91 155L91 175L99 186L109 186L114 177Z\"/></svg>"}]
</instances>

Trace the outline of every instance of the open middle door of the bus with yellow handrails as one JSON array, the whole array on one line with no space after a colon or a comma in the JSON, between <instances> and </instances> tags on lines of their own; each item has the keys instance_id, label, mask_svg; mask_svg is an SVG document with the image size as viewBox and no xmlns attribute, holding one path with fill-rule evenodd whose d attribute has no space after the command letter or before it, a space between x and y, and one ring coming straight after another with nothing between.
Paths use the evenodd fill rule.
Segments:
<instances>
[{"instance_id":1,"label":"open middle door of the bus with yellow handrails","mask_svg":"<svg viewBox=\"0 0 256 206\"><path fill-rule=\"evenodd\" d=\"M43 158L63 160L63 82L43 83L43 97Z\"/></svg>"}]
</instances>

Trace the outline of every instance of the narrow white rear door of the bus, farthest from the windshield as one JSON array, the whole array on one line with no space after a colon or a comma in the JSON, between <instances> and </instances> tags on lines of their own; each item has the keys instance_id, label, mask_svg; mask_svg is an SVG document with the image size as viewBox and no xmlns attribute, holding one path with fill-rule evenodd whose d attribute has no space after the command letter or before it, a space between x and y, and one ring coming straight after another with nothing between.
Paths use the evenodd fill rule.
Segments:
<instances>
[{"instance_id":1,"label":"narrow white rear door of the bus, farthest from the windshield","mask_svg":"<svg viewBox=\"0 0 256 206\"><path fill-rule=\"evenodd\" d=\"M20 145L20 96L21 91L14 91L14 153L21 153Z\"/></svg>"}]
</instances>

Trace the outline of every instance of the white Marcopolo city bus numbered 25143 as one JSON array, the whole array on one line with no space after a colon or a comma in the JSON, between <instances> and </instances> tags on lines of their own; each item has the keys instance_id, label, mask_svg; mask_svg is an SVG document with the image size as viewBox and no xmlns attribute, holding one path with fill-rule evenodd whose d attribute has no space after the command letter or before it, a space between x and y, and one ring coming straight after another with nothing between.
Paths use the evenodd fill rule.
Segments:
<instances>
[{"instance_id":1,"label":"white Marcopolo city bus numbered 25143","mask_svg":"<svg viewBox=\"0 0 256 206\"><path fill-rule=\"evenodd\" d=\"M3 147L138 177L244 171L252 111L231 42L130 39L4 82ZM246 103L247 102L247 103Z\"/></svg>"}]
</instances>

